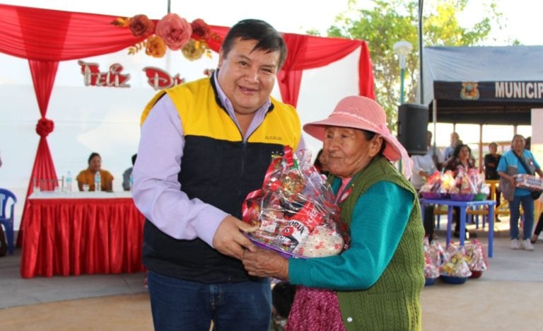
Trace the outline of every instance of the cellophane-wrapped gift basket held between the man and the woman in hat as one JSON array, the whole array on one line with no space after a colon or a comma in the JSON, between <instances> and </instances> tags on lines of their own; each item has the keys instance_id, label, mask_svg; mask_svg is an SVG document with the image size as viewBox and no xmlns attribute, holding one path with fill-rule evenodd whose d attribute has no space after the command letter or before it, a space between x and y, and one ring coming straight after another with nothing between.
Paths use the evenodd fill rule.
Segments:
<instances>
[{"instance_id":1,"label":"cellophane-wrapped gift basket held between the man and the woman in hat","mask_svg":"<svg viewBox=\"0 0 543 331\"><path fill-rule=\"evenodd\" d=\"M247 195L242 211L243 221L259 226L245 235L284 257L337 255L349 245L332 188L307 150L294 154L286 146L284 156L271 161L262 189Z\"/></svg>"}]
</instances>

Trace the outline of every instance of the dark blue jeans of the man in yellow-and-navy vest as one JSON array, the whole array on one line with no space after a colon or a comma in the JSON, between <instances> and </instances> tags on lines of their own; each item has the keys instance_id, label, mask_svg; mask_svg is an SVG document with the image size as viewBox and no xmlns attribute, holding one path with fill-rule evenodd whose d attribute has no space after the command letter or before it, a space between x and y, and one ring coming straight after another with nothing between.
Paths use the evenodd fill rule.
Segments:
<instances>
[{"instance_id":1,"label":"dark blue jeans of the man in yellow-and-navy vest","mask_svg":"<svg viewBox=\"0 0 543 331\"><path fill-rule=\"evenodd\" d=\"M202 284L148 272L155 330L209 331L269 329L269 279Z\"/></svg>"}]
</instances>

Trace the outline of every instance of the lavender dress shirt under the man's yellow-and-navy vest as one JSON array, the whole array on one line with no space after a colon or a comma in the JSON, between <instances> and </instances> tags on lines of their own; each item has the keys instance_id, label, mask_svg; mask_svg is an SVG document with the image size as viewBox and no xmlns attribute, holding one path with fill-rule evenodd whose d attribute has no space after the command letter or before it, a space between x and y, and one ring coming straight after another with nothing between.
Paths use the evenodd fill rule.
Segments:
<instances>
[{"instance_id":1,"label":"lavender dress shirt under the man's yellow-and-navy vest","mask_svg":"<svg viewBox=\"0 0 543 331\"><path fill-rule=\"evenodd\" d=\"M218 83L216 88L228 114L239 128L230 100ZM244 141L262 123L269 105L271 101L267 100L257 110L243 137ZM165 94L141 126L138 158L133 170L132 197L141 213L163 233L176 239L192 240L198 237L213 247L215 231L228 213L200 199L189 199L181 190L177 175L181 170L184 146L181 119L173 101ZM297 150L304 148L302 138Z\"/></svg>"}]
</instances>

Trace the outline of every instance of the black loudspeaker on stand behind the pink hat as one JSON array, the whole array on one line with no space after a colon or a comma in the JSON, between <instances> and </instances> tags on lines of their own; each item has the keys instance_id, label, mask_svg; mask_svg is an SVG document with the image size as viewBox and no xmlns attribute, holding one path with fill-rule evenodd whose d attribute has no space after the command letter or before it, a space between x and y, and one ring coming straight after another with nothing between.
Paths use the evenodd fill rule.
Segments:
<instances>
[{"instance_id":1,"label":"black loudspeaker on stand behind the pink hat","mask_svg":"<svg viewBox=\"0 0 543 331\"><path fill-rule=\"evenodd\" d=\"M410 155L424 155L428 151L427 105L404 103L398 107L398 141Z\"/></svg>"}]
</instances>

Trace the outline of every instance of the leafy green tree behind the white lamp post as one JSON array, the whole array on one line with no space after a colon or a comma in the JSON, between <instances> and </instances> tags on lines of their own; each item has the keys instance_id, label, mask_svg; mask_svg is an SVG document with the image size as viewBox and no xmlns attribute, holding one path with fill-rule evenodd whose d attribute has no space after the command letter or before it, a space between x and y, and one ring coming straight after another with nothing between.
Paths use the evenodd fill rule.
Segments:
<instances>
[{"instance_id":1,"label":"leafy green tree behind the white lamp post","mask_svg":"<svg viewBox=\"0 0 543 331\"><path fill-rule=\"evenodd\" d=\"M469 0L432 0L423 6L424 46L471 46L486 40L492 23L500 23L495 0L484 4L486 18L471 28L462 27L458 16ZM479 1L479 0L474 0ZM330 37L347 37L368 42L373 62L375 95L383 105L389 126L395 128L399 105L400 69L392 45L407 40L413 51L407 55L404 79L404 101L415 103L419 80L419 4L416 0L373 0L373 8L356 8L357 1L349 1L349 10L341 13L328 29ZM501 28L501 26L498 26ZM310 31L309 33L314 33Z\"/></svg>"}]
</instances>

